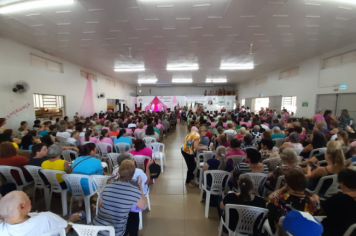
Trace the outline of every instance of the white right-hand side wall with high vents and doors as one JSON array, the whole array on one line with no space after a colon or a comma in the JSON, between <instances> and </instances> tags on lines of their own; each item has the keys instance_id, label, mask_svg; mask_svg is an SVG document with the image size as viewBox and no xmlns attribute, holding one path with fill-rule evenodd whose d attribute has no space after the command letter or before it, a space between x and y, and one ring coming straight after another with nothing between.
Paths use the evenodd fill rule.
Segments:
<instances>
[{"instance_id":1,"label":"white right-hand side wall with high vents and doors","mask_svg":"<svg viewBox=\"0 0 356 236\"><path fill-rule=\"evenodd\" d=\"M284 69L290 69L284 68L256 78L255 80L250 80L248 88L241 88L241 85L244 84L244 82L242 82L239 84L240 89L238 91L238 99L241 103L242 99L256 98L259 97L260 94L263 94L263 97L278 95L297 96L296 115L311 117L314 115L315 110L318 109L318 107L316 107L318 94L356 92L356 79L354 78L356 74L356 63L321 70L324 58L339 55L355 49L356 44L353 44L303 61L299 63L299 75L294 77L278 80L279 73L281 71L284 71ZM268 76L267 83L256 85L256 80L265 76ZM340 84L347 84L347 89L334 91L334 89L337 89ZM308 102L308 107L302 107L302 102Z\"/></svg>"}]
</instances>

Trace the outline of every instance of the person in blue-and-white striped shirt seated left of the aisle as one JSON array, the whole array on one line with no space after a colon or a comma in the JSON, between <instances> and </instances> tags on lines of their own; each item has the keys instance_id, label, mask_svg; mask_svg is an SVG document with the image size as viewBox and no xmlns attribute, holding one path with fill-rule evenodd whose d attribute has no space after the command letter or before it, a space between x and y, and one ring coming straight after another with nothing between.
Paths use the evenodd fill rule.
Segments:
<instances>
[{"instance_id":1,"label":"person in blue-and-white striped shirt seated left of the aisle","mask_svg":"<svg viewBox=\"0 0 356 236\"><path fill-rule=\"evenodd\" d=\"M93 220L94 225L114 226L115 235L138 235L138 214L131 216L130 209L135 204L140 209L147 205L142 189L142 179L138 176L137 186L130 183L135 174L135 164L124 160L119 168L119 180L106 185L99 200L99 212ZM137 217L136 217L137 216ZM133 228L137 230L133 233ZM100 231L98 235L108 236L109 232Z\"/></svg>"}]
</instances>

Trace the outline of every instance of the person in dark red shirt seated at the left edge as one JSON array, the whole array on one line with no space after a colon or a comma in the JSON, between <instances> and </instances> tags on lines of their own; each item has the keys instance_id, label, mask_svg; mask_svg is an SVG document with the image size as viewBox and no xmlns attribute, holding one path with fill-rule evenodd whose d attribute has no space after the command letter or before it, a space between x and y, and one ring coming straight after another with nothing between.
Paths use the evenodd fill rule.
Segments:
<instances>
[{"instance_id":1,"label":"person in dark red shirt seated at the left edge","mask_svg":"<svg viewBox=\"0 0 356 236\"><path fill-rule=\"evenodd\" d=\"M24 156L17 155L14 145L10 142L3 142L0 144L0 165L14 166L21 168L27 182L32 181L30 173L24 168L29 159ZM22 185L20 175L17 171L12 170L11 175L14 177L17 184Z\"/></svg>"}]
</instances>

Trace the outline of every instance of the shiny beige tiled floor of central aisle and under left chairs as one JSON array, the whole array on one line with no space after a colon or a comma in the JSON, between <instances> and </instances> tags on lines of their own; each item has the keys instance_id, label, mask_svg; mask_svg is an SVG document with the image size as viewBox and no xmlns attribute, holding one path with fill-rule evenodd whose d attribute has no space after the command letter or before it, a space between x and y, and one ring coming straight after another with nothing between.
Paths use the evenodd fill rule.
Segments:
<instances>
[{"instance_id":1,"label":"shiny beige tiled floor of central aisle and under left chairs","mask_svg":"<svg viewBox=\"0 0 356 236\"><path fill-rule=\"evenodd\" d=\"M218 235L216 209L210 207L209 218L205 218L205 202L200 202L200 189L184 185L187 168L180 148L186 134L186 126L177 125L175 132L163 141L167 163L164 172L150 186L151 211L143 212L140 236ZM44 211L44 201L40 200L39 192L36 198L33 210ZM75 204L73 212L78 210L80 208ZM51 211L61 214L60 198L53 197Z\"/></svg>"}]
</instances>

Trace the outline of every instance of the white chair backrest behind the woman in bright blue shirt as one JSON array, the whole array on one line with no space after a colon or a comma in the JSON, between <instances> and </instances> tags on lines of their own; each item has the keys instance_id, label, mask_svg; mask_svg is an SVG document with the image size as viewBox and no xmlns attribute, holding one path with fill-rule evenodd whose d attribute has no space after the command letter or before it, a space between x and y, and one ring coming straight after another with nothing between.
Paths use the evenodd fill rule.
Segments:
<instances>
[{"instance_id":1,"label":"white chair backrest behind the woman in bright blue shirt","mask_svg":"<svg viewBox=\"0 0 356 236\"><path fill-rule=\"evenodd\" d=\"M62 178L66 182L68 188L72 192L73 197L85 197L81 180L82 179L87 179L88 180L88 187L89 187L89 195L92 195L94 193L93 190L93 179L89 175L79 175L79 174L64 174L62 175Z\"/></svg>"}]
</instances>

